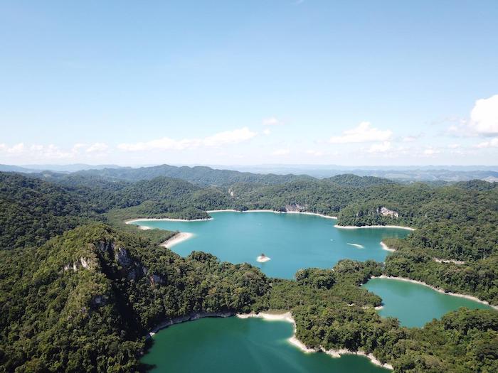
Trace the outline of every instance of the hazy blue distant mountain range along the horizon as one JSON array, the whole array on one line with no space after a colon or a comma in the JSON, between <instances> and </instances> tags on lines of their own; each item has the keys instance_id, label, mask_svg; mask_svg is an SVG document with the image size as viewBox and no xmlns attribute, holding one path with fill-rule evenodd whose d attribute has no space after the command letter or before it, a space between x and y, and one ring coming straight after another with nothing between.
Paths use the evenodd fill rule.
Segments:
<instances>
[{"instance_id":1,"label":"hazy blue distant mountain range along the horizon","mask_svg":"<svg viewBox=\"0 0 498 373\"><path fill-rule=\"evenodd\" d=\"M181 178L192 183L217 185L219 180L229 180L231 183L258 183L261 180L271 180L272 183L282 183L290 179L330 178L334 175L352 173L359 176L376 176L401 182L425 181L433 183L455 183L467 180L498 181L498 166L361 166L349 168L346 166L313 166L313 165L261 165L261 166L144 166L122 167L117 165L88 165L83 163L70 165L0 165L0 171L18 173L73 173L78 175L101 176L116 180L147 180L157 176ZM272 174L272 178L263 175Z\"/></svg>"}]
</instances>

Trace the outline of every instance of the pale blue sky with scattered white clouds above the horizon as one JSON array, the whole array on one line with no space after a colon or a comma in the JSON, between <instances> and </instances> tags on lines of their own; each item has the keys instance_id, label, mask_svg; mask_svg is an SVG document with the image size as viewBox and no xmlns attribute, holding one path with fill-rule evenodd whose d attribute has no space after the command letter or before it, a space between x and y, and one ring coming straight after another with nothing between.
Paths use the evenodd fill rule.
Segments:
<instances>
[{"instance_id":1,"label":"pale blue sky with scattered white clouds above the horizon","mask_svg":"<svg viewBox=\"0 0 498 373\"><path fill-rule=\"evenodd\" d=\"M1 1L0 163L496 164L497 1Z\"/></svg>"}]
</instances>

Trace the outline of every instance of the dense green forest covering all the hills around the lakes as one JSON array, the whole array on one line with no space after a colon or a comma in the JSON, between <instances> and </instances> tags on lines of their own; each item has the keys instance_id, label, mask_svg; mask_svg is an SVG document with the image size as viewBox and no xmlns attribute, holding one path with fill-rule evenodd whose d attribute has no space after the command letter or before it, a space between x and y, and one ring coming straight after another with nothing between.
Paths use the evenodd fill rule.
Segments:
<instances>
[{"instance_id":1,"label":"dense green forest covering all the hills around the lakes","mask_svg":"<svg viewBox=\"0 0 498 373\"><path fill-rule=\"evenodd\" d=\"M458 310L424 328L401 328L377 315L381 298L361 287L387 274L498 304L497 183L138 170L0 173L0 372L144 371L139 357L154 325L267 309L291 310L309 347L373 353L396 372L498 370L498 313ZM344 260L288 281L202 252L182 258L158 246L173 232L123 224L206 218L206 210L223 208L417 229L386 240L396 252L385 264Z\"/></svg>"}]
</instances>

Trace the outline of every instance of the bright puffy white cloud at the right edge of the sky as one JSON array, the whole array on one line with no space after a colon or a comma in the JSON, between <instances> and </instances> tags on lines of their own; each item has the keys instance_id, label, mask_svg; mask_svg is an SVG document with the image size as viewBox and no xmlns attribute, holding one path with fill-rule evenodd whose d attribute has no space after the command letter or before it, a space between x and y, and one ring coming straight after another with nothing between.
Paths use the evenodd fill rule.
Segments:
<instances>
[{"instance_id":1,"label":"bright puffy white cloud at the right edge of the sky","mask_svg":"<svg viewBox=\"0 0 498 373\"><path fill-rule=\"evenodd\" d=\"M498 134L498 94L475 102L470 112L470 127L480 135Z\"/></svg>"}]
</instances>

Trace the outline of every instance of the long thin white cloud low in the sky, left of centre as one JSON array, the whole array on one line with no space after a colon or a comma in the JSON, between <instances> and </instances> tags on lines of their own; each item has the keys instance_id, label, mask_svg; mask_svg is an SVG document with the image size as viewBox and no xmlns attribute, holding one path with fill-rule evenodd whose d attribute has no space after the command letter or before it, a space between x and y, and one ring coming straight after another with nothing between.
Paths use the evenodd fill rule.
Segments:
<instances>
[{"instance_id":1,"label":"long thin white cloud low in the sky, left of centre","mask_svg":"<svg viewBox=\"0 0 498 373\"><path fill-rule=\"evenodd\" d=\"M156 139L147 142L138 142L134 144L120 144L117 147L124 151L146 151L146 150L185 150L205 147L217 147L230 144L239 144L243 141L253 139L257 134L250 131L248 127L234 129L233 131L223 131L213 136L204 137L203 139L181 139L175 140L169 137Z\"/></svg>"}]
</instances>

